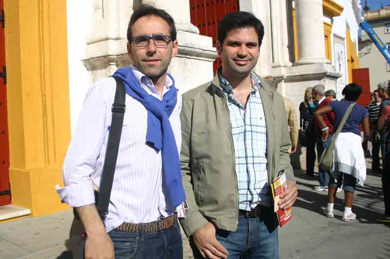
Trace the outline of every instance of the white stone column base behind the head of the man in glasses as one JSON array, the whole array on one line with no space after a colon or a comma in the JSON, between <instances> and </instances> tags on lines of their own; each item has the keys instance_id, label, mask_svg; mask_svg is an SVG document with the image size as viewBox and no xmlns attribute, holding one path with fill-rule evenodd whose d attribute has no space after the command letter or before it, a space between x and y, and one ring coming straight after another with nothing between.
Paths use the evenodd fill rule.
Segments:
<instances>
[{"instance_id":1,"label":"white stone column base behind the head of the man in glasses","mask_svg":"<svg viewBox=\"0 0 390 259\"><path fill-rule=\"evenodd\" d=\"M87 39L85 67L92 83L110 76L117 67L131 63L127 55L128 22L141 3L136 0L94 0L93 32ZM181 93L213 78L213 61L217 57L212 38L199 35L191 24L189 1L142 0L166 10L176 22L179 51L171 61L169 72ZM196 71L197 73L185 73Z\"/></svg>"}]
</instances>

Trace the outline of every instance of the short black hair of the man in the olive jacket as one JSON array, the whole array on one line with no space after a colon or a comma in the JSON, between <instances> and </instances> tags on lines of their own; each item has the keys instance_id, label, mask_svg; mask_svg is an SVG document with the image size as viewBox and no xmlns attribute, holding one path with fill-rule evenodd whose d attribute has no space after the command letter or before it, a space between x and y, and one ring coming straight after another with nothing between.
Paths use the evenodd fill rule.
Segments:
<instances>
[{"instance_id":1,"label":"short black hair of the man in the olive jacket","mask_svg":"<svg viewBox=\"0 0 390 259\"><path fill-rule=\"evenodd\" d=\"M259 46L264 37L264 26L261 23L261 20L258 20L253 14L248 12L232 12L228 13L219 23L218 23L218 41L222 45L223 41L226 39L228 32L245 27L254 27L257 32L257 37L259 40Z\"/></svg>"}]
</instances>

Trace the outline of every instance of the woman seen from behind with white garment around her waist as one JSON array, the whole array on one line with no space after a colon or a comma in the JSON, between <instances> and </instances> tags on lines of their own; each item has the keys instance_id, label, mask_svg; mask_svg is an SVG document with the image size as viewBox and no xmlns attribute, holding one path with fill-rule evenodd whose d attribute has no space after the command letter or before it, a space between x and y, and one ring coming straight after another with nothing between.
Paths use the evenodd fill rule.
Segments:
<instances>
[{"instance_id":1,"label":"woman seen from behind with white garment around her waist","mask_svg":"<svg viewBox=\"0 0 390 259\"><path fill-rule=\"evenodd\" d=\"M337 132L339 132L338 135L336 135L336 132L332 139L332 141L335 141L333 163L331 165L328 188L328 206L324 214L329 218L334 217L333 204L336 189L342 187L345 193L345 208L342 220L350 221L351 219L356 219L356 214L351 210L356 183L363 186L366 180L366 160L363 147L367 147L367 141L370 138L370 122L368 110L356 104L356 100L362 93L362 87L355 83L350 83L345 86L342 93L345 101L332 101L330 105L315 111L315 116L322 127L324 140L328 139L329 131L325 121L322 119L322 114L334 112L336 117L334 126L337 128ZM348 111L350 111L349 115ZM345 118L344 115L346 115ZM339 129L339 125L343 124L343 122L344 125ZM360 124L363 124L363 144L360 135Z\"/></svg>"}]
</instances>

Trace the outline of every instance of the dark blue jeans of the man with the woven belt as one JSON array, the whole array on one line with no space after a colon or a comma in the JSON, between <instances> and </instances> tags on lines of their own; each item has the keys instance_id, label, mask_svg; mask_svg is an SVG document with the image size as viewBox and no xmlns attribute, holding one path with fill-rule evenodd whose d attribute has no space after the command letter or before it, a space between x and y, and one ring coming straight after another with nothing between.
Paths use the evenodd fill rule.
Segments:
<instances>
[{"instance_id":1,"label":"dark blue jeans of the man with the woven belt","mask_svg":"<svg viewBox=\"0 0 390 259\"><path fill-rule=\"evenodd\" d=\"M177 224L158 232L125 232L111 230L115 259L182 259L183 244Z\"/></svg>"}]
</instances>

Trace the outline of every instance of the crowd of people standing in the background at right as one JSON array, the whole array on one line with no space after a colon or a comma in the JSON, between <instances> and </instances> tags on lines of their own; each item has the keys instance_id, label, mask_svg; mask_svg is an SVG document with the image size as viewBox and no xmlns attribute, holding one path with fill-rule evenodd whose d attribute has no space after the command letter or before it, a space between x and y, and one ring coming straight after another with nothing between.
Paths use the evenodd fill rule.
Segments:
<instances>
[{"instance_id":1,"label":"crowd of people standing in the background at right","mask_svg":"<svg viewBox=\"0 0 390 259\"><path fill-rule=\"evenodd\" d=\"M328 204L323 211L334 217L333 205L337 192L344 190L345 209L342 220L356 219L352 212L353 194L356 185L364 186L366 160L372 158L372 173L382 176L385 215L379 222L390 222L390 81L378 84L366 107L356 104L362 87L350 83L342 91L343 98L336 99L333 90L325 91L324 85L315 85L305 90L304 101L299 105L299 143L306 147L306 175L314 176L315 159L318 160L333 140L333 164L331 170L318 167L319 185L315 191L328 192ZM351 105L351 112L347 110ZM345 115L345 122L343 117ZM348 117L347 117L348 116ZM342 128L336 131L340 124ZM363 135L361 134L363 129ZM333 139L334 138L334 139ZM371 142L371 151L368 149ZM348 143L348 144L347 144ZM317 150L317 156L314 150ZM382 168L380 163L382 155Z\"/></svg>"}]
</instances>

